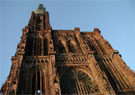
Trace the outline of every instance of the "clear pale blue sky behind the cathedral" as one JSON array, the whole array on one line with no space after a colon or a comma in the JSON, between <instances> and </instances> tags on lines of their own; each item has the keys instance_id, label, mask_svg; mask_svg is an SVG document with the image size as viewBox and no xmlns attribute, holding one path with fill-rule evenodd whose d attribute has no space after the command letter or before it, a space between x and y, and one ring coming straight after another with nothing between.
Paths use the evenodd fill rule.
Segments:
<instances>
[{"instance_id":1,"label":"clear pale blue sky behind the cathedral","mask_svg":"<svg viewBox=\"0 0 135 95\"><path fill-rule=\"evenodd\" d=\"M93 31L103 37L135 70L135 0L1 0L0 1L0 87L11 68L22 29L31 12L42 3L50 14L53 29Z\"/></svg>"}]
</instances>

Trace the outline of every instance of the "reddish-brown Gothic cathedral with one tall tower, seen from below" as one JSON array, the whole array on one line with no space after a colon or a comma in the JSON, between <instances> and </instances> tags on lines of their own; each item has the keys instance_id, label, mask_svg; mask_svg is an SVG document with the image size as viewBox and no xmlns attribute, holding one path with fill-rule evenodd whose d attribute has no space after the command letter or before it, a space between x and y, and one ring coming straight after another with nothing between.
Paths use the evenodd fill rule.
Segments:
<instances>
[{"instance_id":1,"label":"reddish-brown Gothic cathedral with one tall tower, seen from below","mask_svg":"<svg viewBox=\"0 0 135 95\"><path fill-rule=\"evenodd\" d=\"M135 95L135 74L98 28L53 30L42 4L22 30L2 95Z\"/></svg>"}]
</instances>

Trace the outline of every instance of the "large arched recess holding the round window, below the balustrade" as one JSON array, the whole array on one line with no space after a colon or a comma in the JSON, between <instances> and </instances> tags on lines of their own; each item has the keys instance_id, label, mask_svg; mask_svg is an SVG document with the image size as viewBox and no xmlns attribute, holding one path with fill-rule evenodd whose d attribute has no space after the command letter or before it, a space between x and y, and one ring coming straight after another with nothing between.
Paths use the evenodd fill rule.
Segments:
<instances>
[{"instance_id":1,"label":"large arched recess holding the round window, below the balustrade","mask_svg":"<svg viewBox=\"0 0 135 95\"><path fill-rule=\"evenodd\" d=\"M62 95L86 95L98 92L98 86L83 71L67 70L60 78Z\"/></svg>"}]
</instances>

